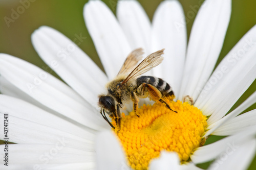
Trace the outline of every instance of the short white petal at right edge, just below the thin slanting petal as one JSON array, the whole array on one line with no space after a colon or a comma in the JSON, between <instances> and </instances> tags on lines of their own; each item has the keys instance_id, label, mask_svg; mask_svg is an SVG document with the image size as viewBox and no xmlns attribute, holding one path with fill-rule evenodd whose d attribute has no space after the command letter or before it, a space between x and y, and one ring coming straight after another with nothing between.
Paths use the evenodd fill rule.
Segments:
<instances>
[{"instance_id":1,"label":"short white petal at right edge, just below the thin slanting petal","mask_svg":"<svg viewBox=\"0 0 256 170\"><path fill-rule=\"evenodd\" d=\"M216 129L212 134L219 136L233 135L254 125L256 125L256 109L234 117Z\"/></svg>"}]
</instances>

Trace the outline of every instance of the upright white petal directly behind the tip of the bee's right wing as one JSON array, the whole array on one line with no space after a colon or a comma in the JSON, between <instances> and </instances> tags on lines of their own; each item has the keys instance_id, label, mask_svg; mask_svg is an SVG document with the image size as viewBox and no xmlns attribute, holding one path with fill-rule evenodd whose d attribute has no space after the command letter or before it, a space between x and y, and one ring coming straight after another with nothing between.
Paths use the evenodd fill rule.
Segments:
<instances>
[{"instance_id":1,"label":"upright white petal directly behind the tip of the bee's right wing","mask_svg":"<svg viewBox=\"0 0 256 170\"><path fill-rule=\"evenodd\" d=\"M163 1L153 18L152 49L165 48L163 63L154 68L154 75L168 82L178 96L186 54L186 25L178 1Z\"/></svg>"}]
</instances>

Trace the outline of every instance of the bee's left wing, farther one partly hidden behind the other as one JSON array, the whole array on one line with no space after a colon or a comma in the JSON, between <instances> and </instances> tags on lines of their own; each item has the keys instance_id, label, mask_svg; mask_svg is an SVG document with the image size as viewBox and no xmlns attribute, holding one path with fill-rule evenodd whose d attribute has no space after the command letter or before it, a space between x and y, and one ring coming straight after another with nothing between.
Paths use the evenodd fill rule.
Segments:
<instances>
[{"instance_id":1,"label":"bee's left wing, farther one partly hidden behind the other","mask_svg":"<svg viewBox=\"0 0 256 170\"><path fill-rule=\"evenodd\" d=\"M142 59L143 54L144 53L142 48L137 48L136 50L132 51L132 53L127 56L122 68L117 75L129 74L129 72L131 72L138 64L138 62Z\"/></svg>"}]
</instances>

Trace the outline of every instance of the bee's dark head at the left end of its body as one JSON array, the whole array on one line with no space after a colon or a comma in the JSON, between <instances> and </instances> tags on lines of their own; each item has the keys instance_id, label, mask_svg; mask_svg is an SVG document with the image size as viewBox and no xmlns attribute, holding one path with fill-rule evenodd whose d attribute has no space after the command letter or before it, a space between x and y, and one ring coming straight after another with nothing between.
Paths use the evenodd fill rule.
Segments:
<instances>
[{"instance_id":1,"label":"bee's dark head at the left end of its body","mask_svg":"<svg viewBox=\"0 0 256 170\"><path fill-rule=\"evenodd\" d=\"M107 110L108 112L115 112L115 105L116 102L114 98L108 95L99 95L99 107L101 107L104 110Z\"/></svg>"}]
</instances>

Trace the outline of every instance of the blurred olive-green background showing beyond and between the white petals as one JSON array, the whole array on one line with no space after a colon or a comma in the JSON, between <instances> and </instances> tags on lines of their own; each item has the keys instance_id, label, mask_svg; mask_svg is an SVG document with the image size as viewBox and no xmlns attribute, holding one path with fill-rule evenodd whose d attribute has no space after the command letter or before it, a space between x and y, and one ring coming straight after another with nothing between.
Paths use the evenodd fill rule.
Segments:
<instances>
[{"instance_id":1,"label":"blurred olive-green background showing beyond and between the white petals","mask_svg":"<svg viewBox=\"0 0 256 170\"><path fill-rule=\"evenodd\" d=\"M76 34L79 35L80 33L82 36L87 37L87 39L85 39L79 45L79 47L84 52L86 52L92 58L92 60L95 61L103 70L92 39L90 38L90 35L88 34L88 31L84 25L82 16L83 6L88 2L88 0L30 0L30 6L25 9L25 11L21 13L17 19L14 19L13 22L10 22L8 27L4 17L7 16L11 18L13 10L17 11L17 8L22 6L20 2L25 1L28 0L0 0L0 53L7 53L22 58L26 61L29 61L30 63L37 65L40 68L45 67L46 64L42 62L31 44L30 36L35 29L42 25L46 25L65 34L71 40L75 38ZM114 13L116 13L116 0L105 0L103 2L108 5ZM139 2L152 20L154 11L162 1L139 0ZM201 2L202 0L180 0L180 3L184 9L185 16L187 16L188 11L191 11L191 6L199 5ZM195 17L189 19L187 22L188 37L194 19ZM240 38L255 24L256 1L233 0L231 19L218 63L240 40ZM53 75L58 77L54 73ZM243 94L243 96L232 109L241 104L255 90L256 82L254 81L254 83ZM246 111L255 108L256 105L253 105ZM214 142L218 139L220 139L220 137L211 136L207 140L206 144ZM200 164L199 166L206 168L208 164L209 162ZM256 157L252 161L249 169L256 169Z\"/></svg>"}]
</instances>

